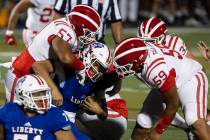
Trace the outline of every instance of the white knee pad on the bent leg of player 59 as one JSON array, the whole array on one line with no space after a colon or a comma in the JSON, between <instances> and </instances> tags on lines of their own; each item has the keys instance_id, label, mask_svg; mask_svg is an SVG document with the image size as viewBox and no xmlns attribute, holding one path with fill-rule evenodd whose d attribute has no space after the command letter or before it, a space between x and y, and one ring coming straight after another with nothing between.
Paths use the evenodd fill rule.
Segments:
<instances>
[{"instance_id":1,"label":"white knee pad on the bent leg of player 59","mask_svg":"<svg viewBox=\"0 0 210 140\"><path fill-rule=\"evenodd\" d=\"M143 128L152 128L152 119L148 114L145 113L138 114L137 123Z\"/></svg>"}]
</instances>

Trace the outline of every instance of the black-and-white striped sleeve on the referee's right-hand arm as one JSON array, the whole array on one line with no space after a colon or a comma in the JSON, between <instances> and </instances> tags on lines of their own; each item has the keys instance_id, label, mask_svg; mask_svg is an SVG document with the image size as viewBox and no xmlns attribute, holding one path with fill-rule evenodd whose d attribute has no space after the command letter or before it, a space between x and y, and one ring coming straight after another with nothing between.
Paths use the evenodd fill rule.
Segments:
<instances>
[{"instance_id":1,"label":"black-and-white striped sleeve on the referee's right-hand arm","mask_svg":"<svg viewBox=\"0 0 210 140\"><path fill-rule=\"evenodd\" d=\"M108 21L110 22L117 22L121 21L120 10L118 7L117 0L112 0L111 5L108 9Z\"/></svg>"}]
</instances>

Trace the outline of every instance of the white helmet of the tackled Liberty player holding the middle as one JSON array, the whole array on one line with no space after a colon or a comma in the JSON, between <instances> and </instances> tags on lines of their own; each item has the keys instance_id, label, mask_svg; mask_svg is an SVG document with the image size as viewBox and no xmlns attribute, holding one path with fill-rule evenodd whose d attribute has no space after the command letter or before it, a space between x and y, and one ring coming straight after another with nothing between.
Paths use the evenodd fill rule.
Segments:
<instances>
[{"instance_id":1,"label":"white helmet of the tackled Liberty player holding the middle","mask_svg":"<svg viewBox=\"0 0 210 140\"><path fill-rule=\"evenodd\" d=\"M96 82L111 65L112 56L106 45L93 42L83 50L83 62L87 77Z\"/></svg>"}]
</instances>

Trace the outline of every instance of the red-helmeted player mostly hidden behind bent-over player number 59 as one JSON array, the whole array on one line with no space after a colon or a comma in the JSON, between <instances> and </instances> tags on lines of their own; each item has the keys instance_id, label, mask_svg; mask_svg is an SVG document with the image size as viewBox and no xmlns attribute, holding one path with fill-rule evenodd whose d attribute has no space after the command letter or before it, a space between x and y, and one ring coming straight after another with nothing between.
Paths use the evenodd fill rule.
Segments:
<instances>
[{"instance_id":1,"label":"red-helmeted player mostly hidden behind bent-over player number 59","mask_svg":"<svg viewBox=\"0 0 210 140\"><path fill-rule=\"evenodd\" d=\"M196 58L188 51L184 41L180 37L168 34L165 22L159 18L147 18L140 23L137 36L145 42L159 44L157 46L160 48L174 50L183 57L196 60ZM153 89L150 93L152 92L158 91ZM190 131L190 128L186 125L185 120L178 113L176 113L176 116L172 121L172 125L183 129L187 133L189 140L195 139L193 137L193 133Z\"/></svg>"}]
</instances>

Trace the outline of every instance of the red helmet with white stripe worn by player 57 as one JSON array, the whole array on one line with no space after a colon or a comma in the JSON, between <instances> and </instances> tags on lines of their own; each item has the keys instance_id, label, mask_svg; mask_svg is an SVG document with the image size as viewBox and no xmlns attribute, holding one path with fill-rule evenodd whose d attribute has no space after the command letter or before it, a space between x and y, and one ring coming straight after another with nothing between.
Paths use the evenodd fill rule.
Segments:
<instances>
[{"instance_id":1,"label":"red helmet with white stripe worn by player 57","mask_svg":"<svg viewBox=\"0 0 210 140\"><path fill-rule=\"evenodd\" d=\"M95 40L100 26L100 16L94 8L85 4L76 5L68 14L68 18L74 25L79 41L89 44Z\"/></svg>"}]
</instances>

